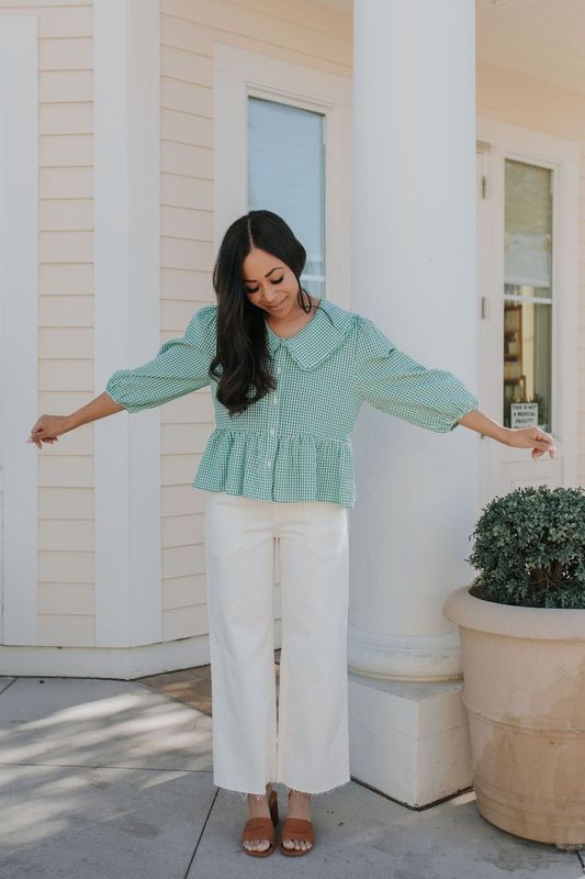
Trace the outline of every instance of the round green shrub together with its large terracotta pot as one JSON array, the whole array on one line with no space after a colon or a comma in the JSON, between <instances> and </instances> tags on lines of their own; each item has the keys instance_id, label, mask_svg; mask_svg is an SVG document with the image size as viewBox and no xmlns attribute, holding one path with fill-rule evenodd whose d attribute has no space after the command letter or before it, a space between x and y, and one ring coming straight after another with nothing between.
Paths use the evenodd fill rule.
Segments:
<instances>
[{"instance_id":1,"label":"round green shrub together with its large terracotta pot","mask_svg":"<svg viewBox=\"0 0 585 879\"><path fill-rule=\"evenodd\" d=\"M492 824L585 844L585 490L522 487L483 509L459 626L473 783ZM471 537L470 537L471 539Z\"/></svg>"}]
</instances>

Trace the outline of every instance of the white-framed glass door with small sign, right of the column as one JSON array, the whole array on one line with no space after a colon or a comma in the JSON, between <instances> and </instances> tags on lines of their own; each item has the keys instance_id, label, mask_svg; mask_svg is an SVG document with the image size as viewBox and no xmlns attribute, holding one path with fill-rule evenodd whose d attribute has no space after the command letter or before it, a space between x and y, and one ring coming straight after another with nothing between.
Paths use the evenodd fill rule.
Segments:
<instances>
[{"instance_id":1,"label":"white-framed glass door with small sign, right of the column","mask_svg":"<svg viewBox=\"0 0 585 879\"><path fill-rule=\"evenodd\" d=\"M479 397L509 429L552 434L554 458L480 443L482 504L578 481L581 147L477 118Z\"/></svg>"}]
</instances>

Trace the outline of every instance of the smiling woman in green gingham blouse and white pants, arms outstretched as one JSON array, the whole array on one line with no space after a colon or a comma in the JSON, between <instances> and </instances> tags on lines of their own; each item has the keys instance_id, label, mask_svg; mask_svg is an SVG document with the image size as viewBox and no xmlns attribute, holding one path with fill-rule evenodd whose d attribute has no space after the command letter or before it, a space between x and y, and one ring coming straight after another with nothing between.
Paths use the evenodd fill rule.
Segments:
<instances>
[{"instance_id":1,"label":"smiling woman in green gingham blouse and white pants, arms outstretched","mask_svg":"<svg viewBox=\"0 0 585 879\"><path fill-rule=\"evenodd\" d=\"M239 218L214 266L217 303L198 309L154 359L116 370L88 405L42 415L29 439L41 448L122 409L139 412L211 385L216 426L193 485L207 492L214 783L247 797L241 842L255 856L274 850L273 781L290 788L281 852L302 855L315 838L312 794L350 780L347 510L356 499L351 434L361 404L437 432L461 423L531 447L532 457L555 450L536 427L508 430L488 419L454 375L413 360L370 319L310 296L300 282L305 259L277 214Z\"/></svg>"}]
</instances>

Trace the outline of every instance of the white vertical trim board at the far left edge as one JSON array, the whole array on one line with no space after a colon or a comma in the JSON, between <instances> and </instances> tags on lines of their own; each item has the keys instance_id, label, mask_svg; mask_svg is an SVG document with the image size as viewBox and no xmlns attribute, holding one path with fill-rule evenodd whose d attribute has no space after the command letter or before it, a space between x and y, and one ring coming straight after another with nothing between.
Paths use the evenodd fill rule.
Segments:
<instances>
[{"instance_id":1,"label":"white vertical trim board at the far left edge","mask_svg":"<svg viewBox=\"0 0 585 879\"><path fill-rule=\"evenodd\" d=\"M38 49L35 15L0 29L0 643L36 644L38 455Z\"/></svg>"}]
</instances>

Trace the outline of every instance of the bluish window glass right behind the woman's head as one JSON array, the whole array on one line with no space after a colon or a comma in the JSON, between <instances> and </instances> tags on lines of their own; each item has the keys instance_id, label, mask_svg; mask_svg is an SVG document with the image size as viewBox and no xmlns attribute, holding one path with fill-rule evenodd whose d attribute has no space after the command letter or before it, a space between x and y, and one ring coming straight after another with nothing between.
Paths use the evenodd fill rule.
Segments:
<instances>
[{"instance_id":1,"label":"bluish window glass right behind the woman's head","mask_svg":"<svg viewBox=\"0 0 585 879\"><path fill-rule=\"evenodd\" d=\"M248 98L248 210L274 211L306 249L301 283L325 296L323 113Z\"/></svg>"}]
</instances>

